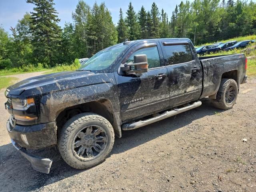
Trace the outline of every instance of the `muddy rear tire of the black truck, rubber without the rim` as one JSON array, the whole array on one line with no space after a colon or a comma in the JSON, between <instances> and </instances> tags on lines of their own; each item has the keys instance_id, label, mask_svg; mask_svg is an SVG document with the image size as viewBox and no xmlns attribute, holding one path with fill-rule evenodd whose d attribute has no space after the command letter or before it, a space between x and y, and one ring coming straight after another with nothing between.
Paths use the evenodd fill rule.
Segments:
<instances>
[{"instance_id":1,"label":"muddy rear tire of the black truck, rubber without the rim","mask_svg":"<svg viewBox=\"0 0 256 192\"><path fill-rule=\"evenodd\" d=\"M234 88L234 99L232 100L232 102L227 103L225 101L225 97L226 97L226 92L230 86ZM238 86L236 81L234 79L224 78L220 82L220 88L217 92L216 99L213 100L212 104L216 108L220 108L224 110L231 109L236 103L237 94L238 94Z\"/></svg>"}]
</instances>

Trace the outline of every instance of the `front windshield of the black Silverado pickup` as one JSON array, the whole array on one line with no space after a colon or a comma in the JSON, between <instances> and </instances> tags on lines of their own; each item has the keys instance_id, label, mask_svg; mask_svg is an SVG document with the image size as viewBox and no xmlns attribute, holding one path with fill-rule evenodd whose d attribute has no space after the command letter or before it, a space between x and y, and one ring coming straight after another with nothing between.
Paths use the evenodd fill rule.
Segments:
<instances>
[{"instance_id":1,"label":"front windshield of the black Silverado pickup","mask_svg":"<svg viewBox=\"0 0 256 192\"><path fill-rule=\"evenodd\" d=\"M126 46L118 46L110 50L102 50L92 56L85 64L83 64L78 71L88 70L104 70L108 68L120 55L120 53L126 49Z\"/></svg>"}]
</instances>

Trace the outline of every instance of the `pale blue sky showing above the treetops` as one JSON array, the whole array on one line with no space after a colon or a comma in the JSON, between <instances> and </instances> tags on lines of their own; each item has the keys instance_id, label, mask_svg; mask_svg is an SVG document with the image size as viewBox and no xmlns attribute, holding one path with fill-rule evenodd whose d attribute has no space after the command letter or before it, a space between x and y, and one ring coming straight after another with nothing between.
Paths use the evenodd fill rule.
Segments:
<instances>
[{"instance_id":1,"label":"pale blue sky showing above the treetops","mask_svg":"<svg viewBox=\"0 0 256 192\"><path fill-rule=\"evenodd\" d=\"M175 9L176 4L180 4L181 0L84 0L91 7L96 1L98 4L105 2L108 10L112 15L114 24L117 24L119 17L119 10L122 8L125 13L128 9L129 2L132 2L134 10L138 12L143 5L146 10L151 9L153 2L156 2L159 11L164 8L165 12L170 18L172 11ZM191 1L191 0L190 0ZM65 22L72 22L71 14L76 9L78 0L54 0L55 9L59 13L59 25L64 26ZM10 32L10 27L15 27L17 21L22 19L26 12L33 10L33 4L26 3L25 0L0 0L0 25Z\"/></svg>"}]
</instances>

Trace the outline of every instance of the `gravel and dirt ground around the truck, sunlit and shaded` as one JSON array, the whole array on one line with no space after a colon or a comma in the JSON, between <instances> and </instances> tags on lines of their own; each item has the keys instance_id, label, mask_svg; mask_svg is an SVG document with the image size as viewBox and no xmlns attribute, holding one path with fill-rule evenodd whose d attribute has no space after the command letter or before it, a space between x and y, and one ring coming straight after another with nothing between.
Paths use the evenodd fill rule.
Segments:
<instances>
[{"instance_id":1,"label":"gravel and dirt ground around the truck, sunlit and shaded","mask_svg":"<svg viewBox=\"0 0 256 192\"><path fill-rule=\"evenodd\" d=\"M106 161L88 170L69 167L54 147L30 150L53 159L50 174L34 171L10 144L4 102L1 91L0 191L256 192L256 78L241 85L231 110L204 99L123 132Z\"/></svg>"}]
</instances>

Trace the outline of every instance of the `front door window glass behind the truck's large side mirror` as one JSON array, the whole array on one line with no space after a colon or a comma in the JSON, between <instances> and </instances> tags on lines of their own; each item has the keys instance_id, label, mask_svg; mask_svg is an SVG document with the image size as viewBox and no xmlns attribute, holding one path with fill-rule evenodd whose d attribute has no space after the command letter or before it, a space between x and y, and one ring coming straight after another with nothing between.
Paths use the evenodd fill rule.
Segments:
<instances>
[{"instance_id":1,"label":"front door window glass behind the truck's large side mirror","mask_svg":"<svg viewBox=\"0 0 256 192\"><path fill-rule=\"evenodd\" d=\"M148 48L142 48L137 51L135 51L126 61L126 63L132 63L133 62L133 56L134 55L140 55L140 54L146 54L148 58L148 68L156 68L160 67L160 57L158 53L157 46L154 47L148 47Z\"/></svg>"}]
</instances>

